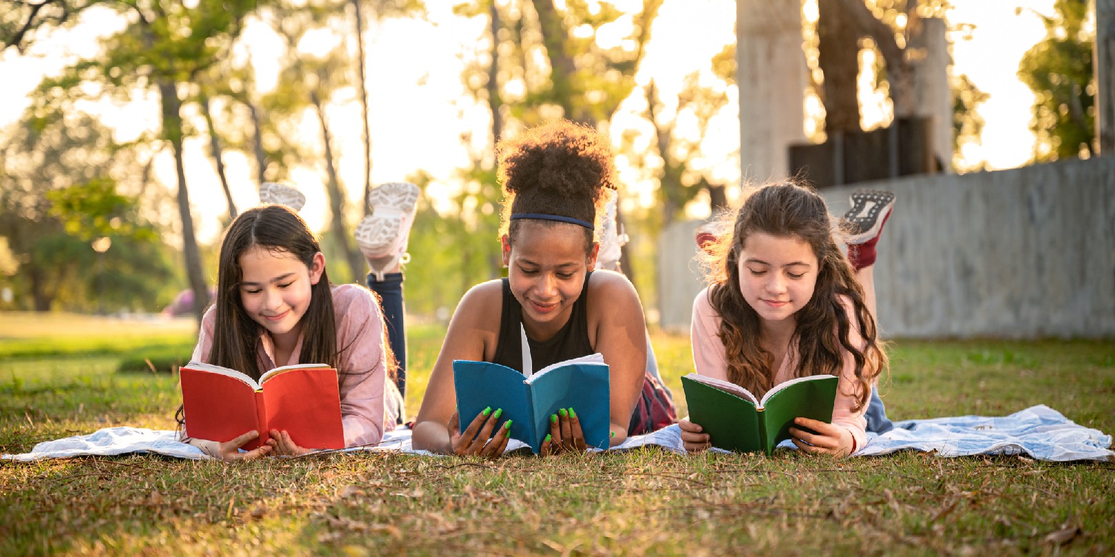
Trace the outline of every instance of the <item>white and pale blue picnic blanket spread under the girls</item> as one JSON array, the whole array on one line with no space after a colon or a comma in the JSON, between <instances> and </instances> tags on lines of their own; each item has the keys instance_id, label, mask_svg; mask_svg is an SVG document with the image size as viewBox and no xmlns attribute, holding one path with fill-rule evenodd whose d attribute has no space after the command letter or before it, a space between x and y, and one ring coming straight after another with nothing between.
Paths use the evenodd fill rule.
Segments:
<instances>
[{"instance_id":1,"label":"white and pale blue picnic blanket spread under the girls","mask_svg":"<svg viewBox=\"0 0 1115 557\"><path fill-rule=\"evenodd\" d=\"M1038 460L1115 460L1108 448L1112 437L1099 430L1074 423L1056 410L1039 404L1000 418L961 416L906 420L895 422L895 428L881 436L869 434L867 444L855 456L889 455L903 449L935 451L941 457L972 455L1026 455ZM610 451L656 446L683 452L677 426L660 429L646 436L634 436ZM512 441L507 450L517 450L524 443ZM793 448L788 441L779 447ZM410 430L388 432L375 447L358 447L346 451L400 451L430 455L410 447ZM32 461L45 458L84 456L112 456L127 453L157 453L186 459L209 459L191 444L177 441L174 431L140 428L105 428L87 436L45 441L23 455L3 455L0 459Z\"/></svg>"}]
</instances>

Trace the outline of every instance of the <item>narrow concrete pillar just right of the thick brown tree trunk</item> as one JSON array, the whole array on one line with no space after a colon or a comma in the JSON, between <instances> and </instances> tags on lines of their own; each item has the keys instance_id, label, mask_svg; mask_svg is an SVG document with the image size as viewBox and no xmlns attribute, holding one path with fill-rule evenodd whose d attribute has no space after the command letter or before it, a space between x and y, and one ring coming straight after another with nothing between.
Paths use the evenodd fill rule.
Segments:
<instances>
[{"instance_id":1,"label":"narrow concrete pillar just right of the thick brown tree trunk","mask_svg":"<svg viewBox=\"0 0 1115 557\"><path fill-rule=\"evenodd\" d=\"M933 156L941 163L941 172L952 173L952 88L949 86L949 42L944 20L922 18L921 29L911 38L909 49L914 49L911 60L914 94L914 114L933 119Z\"/></svg>"}]
</instances>

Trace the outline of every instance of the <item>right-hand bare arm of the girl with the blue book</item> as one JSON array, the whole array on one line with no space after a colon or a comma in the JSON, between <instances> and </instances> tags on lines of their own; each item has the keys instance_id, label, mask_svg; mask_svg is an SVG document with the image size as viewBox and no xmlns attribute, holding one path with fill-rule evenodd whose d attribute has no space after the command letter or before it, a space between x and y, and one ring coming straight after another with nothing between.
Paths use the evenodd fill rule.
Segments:
<instances>
[{"instance_id":1,"label":"right-hand bare arm of the girl with the blue book","mask_svg":"<svg viewBox=\"0 0 1115 557\"><path fill-rule=\"evenodd\" d=\"M611 383L611 444L627 440L631 412L647 373L647 322L634 286L623 275L598 271L589 285L589 331L604 356ZM594 338L592 333L595 333Z\"/></svg>"}]
</instances>

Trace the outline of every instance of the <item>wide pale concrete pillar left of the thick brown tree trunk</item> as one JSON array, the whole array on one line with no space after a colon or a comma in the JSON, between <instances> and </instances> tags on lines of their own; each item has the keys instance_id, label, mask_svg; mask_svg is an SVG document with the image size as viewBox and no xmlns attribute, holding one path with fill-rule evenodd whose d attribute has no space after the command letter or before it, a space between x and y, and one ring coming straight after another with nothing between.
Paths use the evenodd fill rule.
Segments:
<instances>
[{"instance_id":1,"label":"wide pale concrete pillar left of the thick brown tree trunk","mask_svg":"<svg viewBox=\"0 0 1115 557\"><path fill-rule=\"evenodd\" d=\"M808 67L801 0L736 0L736 82L744 179L789 174L787 147L805 143Z\"/></svg>"}]
</instances>

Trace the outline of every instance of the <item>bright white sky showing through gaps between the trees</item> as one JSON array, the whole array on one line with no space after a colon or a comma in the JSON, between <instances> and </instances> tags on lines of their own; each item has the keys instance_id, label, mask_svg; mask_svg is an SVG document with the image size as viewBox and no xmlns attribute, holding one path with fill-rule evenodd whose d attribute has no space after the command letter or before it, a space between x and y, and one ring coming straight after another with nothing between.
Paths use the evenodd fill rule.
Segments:
<instances>
[{"instance_id":1,"label":"bright white sky showing through gaps between the trees","mask_svg":"<svg viewBox=\"0 0 1115 557\"><path fill-rule=\"evenodd\" d=\"M455 167L468 164L460 135L476 129L478 141L485 140L487 114L462 99L463 59L477 48L486 21L465 20L452 13L457 0L427 0L428 20L389 20L369 22L368 49L369 96L371 99L372 182L399 180L418 169L425 169L447 188ZM621 0L619 4L631 3ZM1029 131L1034 96L1015 75L1022 53L1045 35L1036 12L1051 13L1053 0L952 0L950 28L964 23L967 30L953 31L953 74L967 74L990 99L979 111L987 121L981 145L970 146L963 155L968 162L987 160L991 168L1011 168L1029 160L1034 137ZM1024 8L1016 14L1016 8ZM666 96L676 95L681 78L708 60L725 43L733 40L735 2L733 0L666 0L653 28L648 47L644 71L639 81L653 76ZM19 119L30 102L29 94L45 75L60 71L75 58L75 52L96 49L96 33L109 33L123 23L107 11L87 12L75 30L58 32L36 43L26 56L9 50L0 56L0 127ZM258 68L261 88L274 82L275 39L265 26L249 26L245 42ZM683 45L683 52L677 46ZM270 58L269 58L270 57ZM735 102L734 90L729 98ZM638 105L638 104L636 104ZM734 107L734 105L733 105ZM117 139L134 138L142 130L157 127L158 114L154 98L126 107L99 106L103 119L116 128ZM339 152L341 179L350 190L350 199L359 203L362 186L362 147L360 107L356 92L340 91L328 108L331 131ZM623 120L621 120L623 121ZM630 120L628 120L630 121ZM615 123L620 125L620 121ZM714 134L723 140L710 141L706 153L708 165L730 159L738 148L738 124L734 118L714 121ZM220 126L220 125L219 125ZM320 143L320 128L307 118L301 134ZM615 131L613 130L613 136ZM223 194L207 144L193 138L186 144L186 176L193 199L198 235L203 241L219 233L223 213ZM175 187L173 160L164 154L157 165L157 176L167 187ZM229 178L233 195L241 207L258 203L254 170L240 154L227 154ZM730 166L730 165L729 165ZM738 177L734 168L718 170L725 179ZM303 215L316 229L327 223L327 201L322 180L323 168L299 169L293 182L308 194ZM633 203L648 203L650 188L646 180L629 184L636 195ZM443 189L445 190L445 189Z\"/></svg>"}]
</instances>

